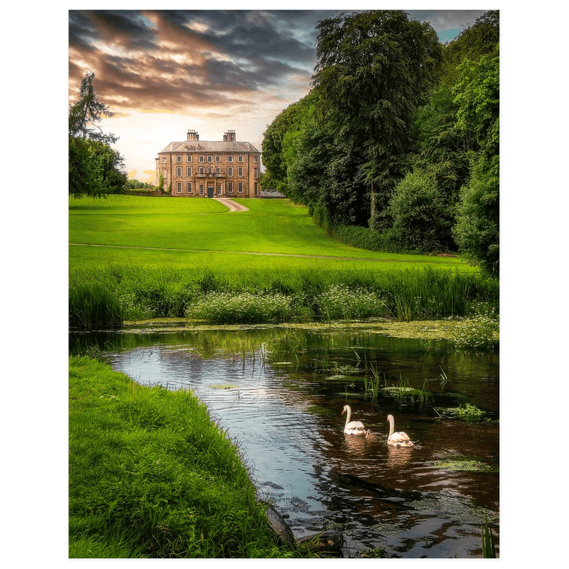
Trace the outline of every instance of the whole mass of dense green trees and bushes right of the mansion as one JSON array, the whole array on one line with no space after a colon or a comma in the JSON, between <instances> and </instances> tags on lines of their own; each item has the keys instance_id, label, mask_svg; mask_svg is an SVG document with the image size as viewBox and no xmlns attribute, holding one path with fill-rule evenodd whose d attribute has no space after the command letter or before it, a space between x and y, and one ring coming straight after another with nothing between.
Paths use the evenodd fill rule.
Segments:
<instances>
[{"instance_id":1,"label":"whole mass of dense green trees and bushes right of the mansion","mask_svg":"<svg viewBox=\"0 0 569 569\"><path fill-rule=\"evenodd\" d=\"M499 12L447 45L403 11L317 31L311 92L265 132L262 187L354 245L460 251L498 275Z\"/></svg>"}]
</instances>

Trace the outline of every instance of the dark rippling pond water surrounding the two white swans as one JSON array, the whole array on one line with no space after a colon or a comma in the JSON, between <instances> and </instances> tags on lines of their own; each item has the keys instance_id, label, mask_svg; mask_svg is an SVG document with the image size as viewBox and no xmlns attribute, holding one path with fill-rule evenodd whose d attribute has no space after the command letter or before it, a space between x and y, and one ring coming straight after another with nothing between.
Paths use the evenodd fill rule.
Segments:
<instances>
[{"instance_id":1,"label":"dark rippling pond water surrounding the two white swans","mask_svg":"<svg viewBox=\"0 0 569 569\"><path fill-rule=\"evenodd\" d=\"M427 351L349 327L70 337L72 351L93 342L135 381L206 403L297 538L334 527L344 557L476 558L487 515L499 549L496 354ZM375 438L344 435L346 403ZM476 421L457 415L467 405ZM388 414L415 448L386 445Z\"/></svg>"}]
</instances>

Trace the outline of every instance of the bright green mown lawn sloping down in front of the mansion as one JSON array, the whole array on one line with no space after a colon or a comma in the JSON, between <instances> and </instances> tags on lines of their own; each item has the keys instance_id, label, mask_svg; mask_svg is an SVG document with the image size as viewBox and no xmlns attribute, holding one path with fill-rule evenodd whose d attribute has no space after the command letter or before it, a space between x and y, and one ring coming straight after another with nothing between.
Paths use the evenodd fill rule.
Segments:
<instances>
[{"instance_id":1,"label":"bright green mown lawn sloping down in front of the mansion","mask_svg":"<svg viewBox=\"0 0 569 569\"><path fill-rule=\"evenodd\" d=\"M70 198L70 267L100 264L196 265L227 267L311 268L323 261L300 257L243 255L312 255L343 257L334 265L362 268L417 267L418 264L472 271L456 257L397 255L336 243L314 225L307 208L282 200L235 200L249 208L230 213L218 201L198 198L108 196ZM85 247L78 245L101 245ZM235 254L240 253L240 254ZM361 265L360 265L361 264Z\"/></svg>"}]
</instances>

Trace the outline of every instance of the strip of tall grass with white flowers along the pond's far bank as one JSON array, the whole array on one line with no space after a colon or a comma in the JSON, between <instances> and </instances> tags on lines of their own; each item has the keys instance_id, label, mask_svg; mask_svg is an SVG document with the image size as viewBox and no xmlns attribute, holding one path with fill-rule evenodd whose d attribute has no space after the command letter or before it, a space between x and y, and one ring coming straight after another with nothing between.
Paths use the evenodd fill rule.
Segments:
<instances>
[{"instance_id":1,"label":"strip of tall grass with white flowers along the pond's far bank","mask_svg":"<svg viewBox=\"0 0 569 569\"><path fill-rule=\"evenodd\" d=\"M70 315L75 326L99 326L95 317L85 316L91 314L86 307L100 306L97 298L105 293L108 306L115 307L111 312L118 310L126 320L188 317L227 324L369 317L413 320L460 316L473 302L497 306L498 289L497 282L479 273L432 267L216 272L107 265L70 272Z\"/></svg>"}]
</instances>

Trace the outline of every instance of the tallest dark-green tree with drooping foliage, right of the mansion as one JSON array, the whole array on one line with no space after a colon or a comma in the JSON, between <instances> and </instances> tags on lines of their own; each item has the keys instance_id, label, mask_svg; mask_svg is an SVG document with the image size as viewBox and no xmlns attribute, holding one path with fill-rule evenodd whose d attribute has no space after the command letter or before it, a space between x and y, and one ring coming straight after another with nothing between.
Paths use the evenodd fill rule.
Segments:
<instances>
[{"instance_id":1,"label":"tallest dark-green tree with drooping foliage, right of the mansion","mask_svg":"<svg viewBox=\"0 0 569 569\"><path fill-rule=\"evenodd\" d=\"M368 194L359 201L371 204L368 218L379 226L404 175L415 113L437 78L441 46L430 24L403 11L341 14L320 21L317 31L313 85L336 142L358 153L353 161L365 179L358 191Z\"/></svg>"}]
</instances>

